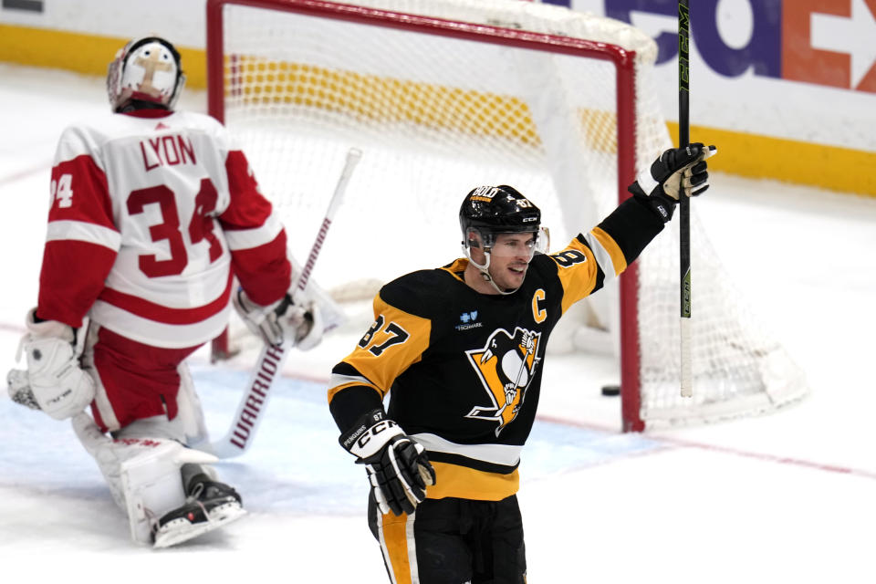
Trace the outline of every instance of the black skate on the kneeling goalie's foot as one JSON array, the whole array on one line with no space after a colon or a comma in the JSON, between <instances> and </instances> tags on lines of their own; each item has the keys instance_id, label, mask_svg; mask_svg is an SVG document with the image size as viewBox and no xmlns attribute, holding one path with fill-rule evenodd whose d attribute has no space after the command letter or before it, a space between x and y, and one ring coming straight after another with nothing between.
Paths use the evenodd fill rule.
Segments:
<instances>
[{"instance_id":1,"label":"black skate on the kneeling goalie's foot","mask_svg":"<svg viewBox=\"0 0 876 584\"><path fill-rule=\"evenodd\" d=\"M155 547L170 547L198 537L246 514L240 495L232 487L194 477L185 504L164 514L152 527Z\"/></svg>"}]
</instances>

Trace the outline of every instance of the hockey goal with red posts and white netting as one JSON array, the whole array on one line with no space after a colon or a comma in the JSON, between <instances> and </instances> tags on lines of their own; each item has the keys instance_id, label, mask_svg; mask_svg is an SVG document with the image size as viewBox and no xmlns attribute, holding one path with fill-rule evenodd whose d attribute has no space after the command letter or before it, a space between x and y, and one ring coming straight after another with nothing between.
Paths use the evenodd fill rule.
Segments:
<instances>
[{"instance_id":1,"label":"hockey goal with red posts and white netting","mask_svg":"<svg viewBox=\"0 0 876 584\"><path fill-rule=\"evenodd\" d=\"M346 152L365 152L314 270L339 298L453 260L459 203L482 184L526 193L557 250L671 145L656 47L608 18L516 0L210 0L207 14L210 112L299 258L313 234L297 227L321 223ZM679 397L676 230L589 310L590 326L620 331L625 430L768 412L807 391L692 215L694 398Z\"/></svg>"}]
</instances>

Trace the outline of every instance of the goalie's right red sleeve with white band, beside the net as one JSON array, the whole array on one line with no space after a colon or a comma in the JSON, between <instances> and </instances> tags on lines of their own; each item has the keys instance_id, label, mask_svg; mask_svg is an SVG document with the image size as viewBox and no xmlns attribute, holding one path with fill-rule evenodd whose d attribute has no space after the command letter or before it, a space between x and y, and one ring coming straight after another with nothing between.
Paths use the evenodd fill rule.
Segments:
<instances>
[{"instance_id":1,"label":"goalie's right red sleeve with white band, beside the net","mask_svg":"<svg viewBox=\"0 0 876 584\"><path fill-rule=\"evenodd\" d=\"M269 305L291 285L286 231L258 183L242 151L229 151L225 172L231 202L219 215L232 266L241 287L255 303Z\"/></svg>"}]
</instances>

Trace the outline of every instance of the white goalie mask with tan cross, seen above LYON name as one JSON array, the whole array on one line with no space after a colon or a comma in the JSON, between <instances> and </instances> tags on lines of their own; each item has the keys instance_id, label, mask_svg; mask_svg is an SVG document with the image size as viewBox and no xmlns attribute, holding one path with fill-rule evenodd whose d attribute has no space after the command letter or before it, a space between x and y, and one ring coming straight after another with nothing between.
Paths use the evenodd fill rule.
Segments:
<instances>
[{"instance_id":1,"label":"white goalie mask with tan cross, seen above LYON name","mask_svg":"<svg viewBox=\"0 0 876 584\"><path fill-rule=\"evenodd\" d=\"M185 84L180 54L158 36L131 40L119 49L107 69L107 94L113 111L131 100L173 110Z\"/></svg>"}]
</instances>

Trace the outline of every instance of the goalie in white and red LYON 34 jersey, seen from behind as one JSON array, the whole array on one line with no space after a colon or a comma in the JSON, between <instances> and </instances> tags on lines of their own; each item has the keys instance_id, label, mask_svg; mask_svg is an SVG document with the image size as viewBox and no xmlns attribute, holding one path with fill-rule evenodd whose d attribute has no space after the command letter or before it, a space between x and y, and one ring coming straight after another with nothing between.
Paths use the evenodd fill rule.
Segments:
<instances>
[{"instance_id":1,"label":"goalie in white and red LYON 34 jersey, seen from behind","mask_svg":"<svg viewBox=\"0 0 876 584\"><path fill-rule=\"evenodd\" d=\"M213 118L173 109L184 79L171 43L132 40L110 63L113 115L61 135L27 370L8 376L15 401L73 420L131 536L155 547L244 514L215 457L186 447L206 433L183 361L222 332L232 297L268 343L322 334L314 299L289 296L286 232L244 153Z\"/></svg>"}]
</instances>

